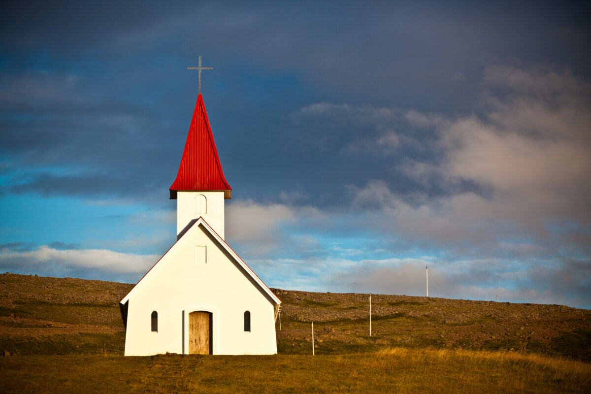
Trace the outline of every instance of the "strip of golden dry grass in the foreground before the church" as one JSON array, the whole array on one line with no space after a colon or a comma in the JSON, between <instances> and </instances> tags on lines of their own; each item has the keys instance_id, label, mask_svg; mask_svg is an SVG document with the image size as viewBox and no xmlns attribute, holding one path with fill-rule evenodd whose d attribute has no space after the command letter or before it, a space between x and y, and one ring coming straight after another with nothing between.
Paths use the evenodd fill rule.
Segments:
<instances>
[{"instance_id":1,"label":"strip of golden dry grass in the foreground before the church","mask_svg":"<svg viewBox=\"0 0 591 394\"><path fill-rule=\"evenodd\" d=\"M591 365L508 351L0 359L0 392L589 393Z\"/></svg>"}]
</instances>

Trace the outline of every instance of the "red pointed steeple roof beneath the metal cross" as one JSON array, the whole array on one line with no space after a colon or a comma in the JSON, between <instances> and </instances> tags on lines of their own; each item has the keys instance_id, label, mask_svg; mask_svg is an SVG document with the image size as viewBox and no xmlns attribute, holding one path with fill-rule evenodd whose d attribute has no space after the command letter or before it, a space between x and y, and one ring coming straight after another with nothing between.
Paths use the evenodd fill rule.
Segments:
<instances>
[{"instance_id":1,"label":"red pointed steeple roof beneath the metal cross","mask_svg":"<svg viewBox=\"0 0 591 394\"><path fill-rule=\"evenodd\" d=\"M223 176L201 94L197 96L181 165L170 187L170 198L176 199L179 190L223 191L224 198L232 198L232 188Z\"/></svg>"}]
</instances>

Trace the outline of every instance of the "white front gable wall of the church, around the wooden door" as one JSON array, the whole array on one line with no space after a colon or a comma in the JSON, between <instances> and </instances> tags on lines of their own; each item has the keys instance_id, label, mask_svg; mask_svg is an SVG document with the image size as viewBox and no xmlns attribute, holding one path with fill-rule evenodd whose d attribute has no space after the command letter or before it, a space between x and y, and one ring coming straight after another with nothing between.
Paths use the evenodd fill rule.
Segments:
<instances>
[{"instance_id":1,"label":"white front gable wall of the church, around the wooden door","mask_svg":"<svg viewBox=\"0 0 591 394\"><path fill-rule=\"evenodd\" d=\"M272 302L205 231L191 227L129 296L126 356L183 353L183 344L184 353L189 353L189 313L193 311L212 312L213 354L277 353ZM196 261L203 252L197 247L203 246L206 262ZM250 332L244 331L247 310ZM151 332L152 311L158 312L157 333Z\"/></svg>"}]
</instances>

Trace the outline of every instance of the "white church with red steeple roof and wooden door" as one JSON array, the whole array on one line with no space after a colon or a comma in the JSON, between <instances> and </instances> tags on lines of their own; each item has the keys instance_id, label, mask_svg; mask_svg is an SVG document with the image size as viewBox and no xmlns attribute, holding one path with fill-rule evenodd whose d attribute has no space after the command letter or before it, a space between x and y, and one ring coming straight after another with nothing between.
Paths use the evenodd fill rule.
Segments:
<instances>
[{"instance_id":1,"label":"white church with red steeple roof and wooden door","mask_svg":"<svg viewBox=\"0 0 591 394\"><path fill-rule=\"evenodd\" d=\"M170 187L177 242L119 304L125 356L277 353L281 301L224 240L231 193L199 92Z\"/></svg>"}]
</instances>

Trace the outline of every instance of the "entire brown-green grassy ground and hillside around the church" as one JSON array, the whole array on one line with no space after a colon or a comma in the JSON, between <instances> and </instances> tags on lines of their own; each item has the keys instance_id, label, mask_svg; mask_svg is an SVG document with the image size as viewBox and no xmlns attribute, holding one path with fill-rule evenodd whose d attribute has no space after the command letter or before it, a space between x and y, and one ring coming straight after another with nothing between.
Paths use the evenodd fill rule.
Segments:
<instances>
[{"instance_id":1,"label":"entire brown-green grassy ground and hillside around the church","mask_svg":"<svg viewBox=\"0 0 591 394\"><path fill-rule=\"evenodd\" d=\"M0 275L0 393L588 393L589 311L277 290L276 356L123 357L131 285ZM314 321L316 356L311 356Z\"/></svg>"}]
</instances>

